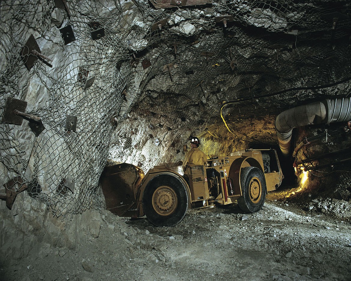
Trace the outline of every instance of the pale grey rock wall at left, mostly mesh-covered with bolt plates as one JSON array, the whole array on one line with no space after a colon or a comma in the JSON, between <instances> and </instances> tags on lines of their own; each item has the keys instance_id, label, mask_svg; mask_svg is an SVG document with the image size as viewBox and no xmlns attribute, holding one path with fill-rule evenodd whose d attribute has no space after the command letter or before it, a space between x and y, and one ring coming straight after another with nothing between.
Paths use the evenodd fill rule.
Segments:
<instances>
[{"instance_id":1,"label":"pale grey rock wall at left, mostly mesh-covered with bolt plates","mask_svg":"<svg viewBox=\"0 0 351 281\"><path fill-rule=\"evenodd\" d=\"M120 52L124 43L119 37L127 23L114 15L121 18L126 12L134 18L136 7L86 2L72 9L57 2L0 3L0 182L15 179L14 191L21 182L27 186L11 210L1 201L1 248L6 254L25 255L33 237L74 247L80 226L91 225L93 210L104 206L98 179L128 75L116 69L126 55ZM92 39L92 19L108 25L100 41ZM69 26L67 34L62 28ZM24 118L21 125L13 124L11 98L40 122ZM33 129L38 127L41 131ZM15 233L22 237L18 243Z\"/></svg>"}]
</instances>

